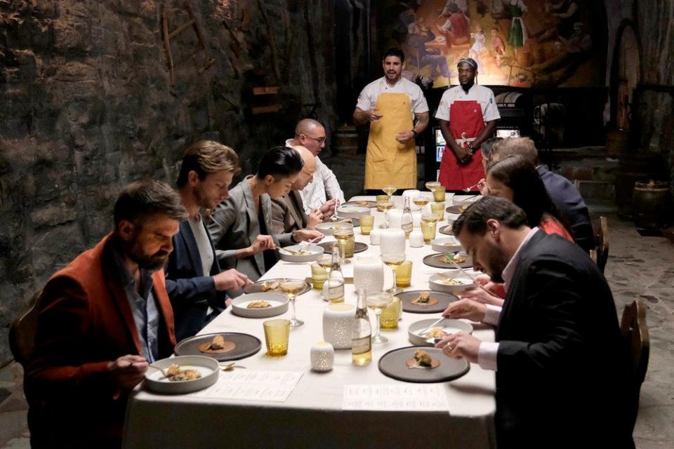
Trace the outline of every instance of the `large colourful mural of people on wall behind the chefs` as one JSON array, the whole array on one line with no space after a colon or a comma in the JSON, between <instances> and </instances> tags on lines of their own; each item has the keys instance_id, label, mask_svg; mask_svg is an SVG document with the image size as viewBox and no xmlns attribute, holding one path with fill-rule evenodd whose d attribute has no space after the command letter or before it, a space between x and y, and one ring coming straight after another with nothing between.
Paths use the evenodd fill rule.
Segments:
<instances>
[{"instance_id":1,"label":"large colourful mural of people on wall behind the chefs","mask_svg":"<svg viewBox=\"0 0 674 449\"><path fill-rule=\"evenodd\" d=\"M385 42L402 46L407 76L434 87L457 84L456 61L479 64L487 85L603 86L605 37L601 1L408 0L386 7L393 29ZM395 11L395 12L394 12ZM383 12L380 10L380 12ZM388 38L388 39L386 39Z\"/></svg>"}]
</instances>

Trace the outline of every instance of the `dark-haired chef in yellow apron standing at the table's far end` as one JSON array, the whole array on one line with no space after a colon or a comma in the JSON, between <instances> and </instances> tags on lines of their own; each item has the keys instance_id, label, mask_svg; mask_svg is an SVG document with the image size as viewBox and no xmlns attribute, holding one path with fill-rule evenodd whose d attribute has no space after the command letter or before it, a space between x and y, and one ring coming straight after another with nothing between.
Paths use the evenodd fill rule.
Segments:
<instances>
[{"instance_id":1,"label":"dark-haired chef in yellow apron standing at the table's far end","mask_svg":"<svg viewBox=\"0 0 674 449\"><path fill-rule=\"evenodd\" d=\"M386 51L384 76L365 86L353 113L355 123L370 122L365 189L381 189L387 184L416 189L414 138L428 126L428 103L419 86L402 78L404 61L399 48Z\"/></svg>"}]
</instances>

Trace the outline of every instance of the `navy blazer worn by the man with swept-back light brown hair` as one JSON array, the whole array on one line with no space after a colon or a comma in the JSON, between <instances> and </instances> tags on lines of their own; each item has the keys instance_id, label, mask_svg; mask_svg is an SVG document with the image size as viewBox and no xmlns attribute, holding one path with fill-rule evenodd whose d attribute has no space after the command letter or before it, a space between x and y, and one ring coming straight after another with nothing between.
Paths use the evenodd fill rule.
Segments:
<instances>
[{"instance_id":1,"label":"navy blazer worn by the man with swept-back light brown hair","mask_svg":"<svg viewBox=\"0 0 674 449\"><path fill-rule=\"evenodd\" d=\"M204 220L201 220L201 224L204 225ZM210 234L209 241L211 241ZM196 334L216 316L216 314L207 316L209 305L216 313L226 307L227 295L223 291L216 290L216 283L212 277L221 271L213 241L211 250L213 251L211 272L204 274L199 248L190 223L187 220L180 223L180 232L173 236L173 252L164 269L166 291L169 293L176 319L178 341Z\"/></svg>"}]
</instances>

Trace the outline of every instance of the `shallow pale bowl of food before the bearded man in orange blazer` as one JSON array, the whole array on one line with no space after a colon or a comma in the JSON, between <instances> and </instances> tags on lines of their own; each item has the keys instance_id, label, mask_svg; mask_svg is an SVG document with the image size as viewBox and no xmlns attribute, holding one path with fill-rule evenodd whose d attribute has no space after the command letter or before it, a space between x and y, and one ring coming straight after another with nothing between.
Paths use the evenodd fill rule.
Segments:
<instances>
[{"instance_id":1,"label":"shallow pale bowl of food before the bearded man in orange blazer","mask_svg":"<svg viewBox=\"0 0 674 449\"><path fill-rule=\"evenodd\" d=\"M173 363L179 365L182 370L199 370L201 377L194 380L178 380L176 382L171 382L164 377L164 374L161 373L159 369L166 370ZM147 368L147 371L145 371L145 385L147 385L147 388L156 391L157 393L185 394L210 387L218 380L218 373L220 373L218 361L212 357L178 356L162 358L161 360L152 363L150 368Z\"/></svg>"}]
</instances>

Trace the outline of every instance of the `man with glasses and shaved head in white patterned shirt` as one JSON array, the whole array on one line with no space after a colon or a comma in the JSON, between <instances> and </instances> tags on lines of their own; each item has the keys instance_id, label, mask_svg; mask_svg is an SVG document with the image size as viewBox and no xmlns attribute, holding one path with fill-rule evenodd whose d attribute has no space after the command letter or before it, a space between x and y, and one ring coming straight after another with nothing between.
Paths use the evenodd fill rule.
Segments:
<instances>
[{"instance_id":1,"label":"man with glasses and shaved head in white patterned shirt","mask_svg":"<svg viewBox=\"0 0 674 449\"><path fill-rule=\"evenodd\" d=\"M295 127L295 137L286 140L286 147L305 147L316 157L316 171L314 180L300 191L304 203L304 211L310 214L312 210L320 209L324 215L334 210L336 202L343 203L344 193L337 177L319 159L318 154L325 147L325 128L313 119L303 119Z\"/></svg>"}]
</instances>

